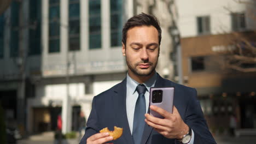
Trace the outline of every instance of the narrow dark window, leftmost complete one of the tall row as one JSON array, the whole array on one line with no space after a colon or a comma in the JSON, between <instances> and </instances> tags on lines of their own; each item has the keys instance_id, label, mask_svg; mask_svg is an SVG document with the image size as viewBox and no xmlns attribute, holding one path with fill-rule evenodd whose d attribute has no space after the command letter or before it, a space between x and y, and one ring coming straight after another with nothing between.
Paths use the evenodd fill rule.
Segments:
<instances>
[{"instance_id":1,"label":"narrow dark window, leftmost complete one of the tall row","mask_svg":"<svg viewBox=\"0 0 256 144\"><path fill-rule=\"evenodd\" d=\"M19 51L19 13L20 3L11 3L10 57L18 57Z\"/></svg>"}]
</instances>

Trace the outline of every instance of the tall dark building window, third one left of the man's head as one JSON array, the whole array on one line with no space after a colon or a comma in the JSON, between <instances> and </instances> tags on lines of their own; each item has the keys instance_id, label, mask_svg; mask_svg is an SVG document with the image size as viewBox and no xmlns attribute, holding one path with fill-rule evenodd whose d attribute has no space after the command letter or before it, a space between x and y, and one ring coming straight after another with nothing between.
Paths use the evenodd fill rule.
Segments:
<instances>
[{"instance_id":1,"label":"tall dark building window, third one left of the man's head","mask_svg":"<svg viewBox=\"0 0 256 144\"><path fill-rule=\"evenodd\" d=\"M80 50L80 4L69 0L69 51Z\"/></svg>"}]
</instances>

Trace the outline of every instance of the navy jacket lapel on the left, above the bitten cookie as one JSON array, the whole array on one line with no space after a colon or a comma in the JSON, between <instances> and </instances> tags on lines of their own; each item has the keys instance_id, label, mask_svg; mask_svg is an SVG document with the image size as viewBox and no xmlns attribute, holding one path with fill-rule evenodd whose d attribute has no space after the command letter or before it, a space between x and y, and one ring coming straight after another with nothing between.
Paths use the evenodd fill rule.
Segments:
<instances>
[{"instance_id":1,"label":"navy jacket lapel on the left, above the bitten cookie","mask_svg":"<svg viewBox=\"0 0 256 144\"><path fill-rule=\"evenodd\" d=\"M114 89L113 106L117 127L123 127L123 136L127 143L133 143L126 114L126 78Z\"/></svg>"}]
</instances>

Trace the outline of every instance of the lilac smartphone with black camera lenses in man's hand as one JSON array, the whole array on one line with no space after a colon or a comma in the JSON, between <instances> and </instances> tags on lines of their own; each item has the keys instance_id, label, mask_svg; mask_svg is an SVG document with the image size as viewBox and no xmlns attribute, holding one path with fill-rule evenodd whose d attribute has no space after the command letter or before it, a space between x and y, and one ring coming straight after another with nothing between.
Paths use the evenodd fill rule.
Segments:
<instances>
[{"instance_id":1,"label":"lilac smartphone with black camera lenses in man's hand","mask_svg":"<svg viewBox=\"0 0 256 144\"><path fill-rule=\"evenodd\" d=\"M150 88L149 106L155 105L172 113L173 97L174 97L174 87L164 87L164 88L152 87ZM149 114L154 117L164 118L159 113L150 109L149 109Z\"/></svg>"}]
</instances>

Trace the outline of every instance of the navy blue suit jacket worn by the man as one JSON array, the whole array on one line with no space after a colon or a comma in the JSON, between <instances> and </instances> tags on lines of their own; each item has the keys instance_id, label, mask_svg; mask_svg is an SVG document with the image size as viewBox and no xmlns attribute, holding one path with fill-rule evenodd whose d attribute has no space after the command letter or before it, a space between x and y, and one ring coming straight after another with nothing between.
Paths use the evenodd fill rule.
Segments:
<instances>
[{"instance_id":1,"label":"navy blue suit jacket worn by the man","mask_svg":"<svg viewBox=\"0 0 256 144\"><path fill-rule=\"evenodd\" d=\"M173 103L177 107L183 121L194 131L194 143L216 143L210 133L201 110L194 88L178 85L163 79L158 75L155 87L174 87ZM123 128L123 135L113 142L114 144L132 144L132 135L126 115L126 79L107 91L98 94L92 100L92 110L88 118L85 135L80 141L85 144L88 137L98 133L102 128ZM174 139L167 139L147 124L144 127L142 143L178 143Z\"/></svg>"}]
</instances>

